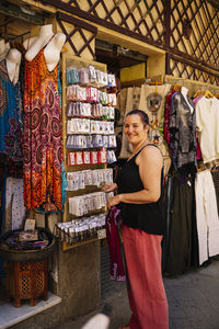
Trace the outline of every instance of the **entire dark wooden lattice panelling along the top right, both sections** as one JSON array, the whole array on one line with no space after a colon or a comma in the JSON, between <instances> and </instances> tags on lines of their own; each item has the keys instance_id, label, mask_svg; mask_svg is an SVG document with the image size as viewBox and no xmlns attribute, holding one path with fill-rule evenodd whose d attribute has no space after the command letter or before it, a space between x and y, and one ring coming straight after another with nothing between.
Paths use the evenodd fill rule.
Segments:
<instances>
[{"instance_id":1,"label":"entire dark wooden lattice panelling along the top right, both sections","mask_svg":"<svg viewBox=\"0 0 219 329\"><path fill-rule=\"evenodd\" d=\"M111 30L219 67L219 11L203 0L38 0Z\"/></svg>"}]
</instances>

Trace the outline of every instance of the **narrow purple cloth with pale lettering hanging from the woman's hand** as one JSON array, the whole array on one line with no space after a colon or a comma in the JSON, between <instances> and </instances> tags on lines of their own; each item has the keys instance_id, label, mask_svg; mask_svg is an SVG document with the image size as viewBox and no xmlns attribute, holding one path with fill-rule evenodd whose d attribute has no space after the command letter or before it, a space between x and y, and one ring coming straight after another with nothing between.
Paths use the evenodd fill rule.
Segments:
<instances>
[{"instance_id":1,"label":"narrow purple cloth with pale lettering hanging from the woman's hand","mask_svg":"<svg viewBox=\"0 0 219 329\"><path fill-rule=\"evenodd\" d=\"M120 239L118 232L118 217L120 211L117 207L113 207L106 215L106 238L110 249L110 272L111 280L125 281L125 270L123 264L123 258L120 253Z\"/></svg>"}]
</instances>

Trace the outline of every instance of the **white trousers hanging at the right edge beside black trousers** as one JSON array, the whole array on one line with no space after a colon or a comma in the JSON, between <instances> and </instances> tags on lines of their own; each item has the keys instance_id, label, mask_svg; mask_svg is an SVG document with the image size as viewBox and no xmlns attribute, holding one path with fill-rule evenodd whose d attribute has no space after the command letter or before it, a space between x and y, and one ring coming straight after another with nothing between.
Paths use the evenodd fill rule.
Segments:
<instances>
[{"instance_id":1,"label":"white trousers hanging at the right edge beside black trousers","mask_svg":"<svg viewBox=\"0 0 219 329\"><path fill-rule=\"evenodd\" d=\"M195 181L199 264L219 254L219 217L216 191L209 170L198 172Z\"/></svg>"}]
</instances>

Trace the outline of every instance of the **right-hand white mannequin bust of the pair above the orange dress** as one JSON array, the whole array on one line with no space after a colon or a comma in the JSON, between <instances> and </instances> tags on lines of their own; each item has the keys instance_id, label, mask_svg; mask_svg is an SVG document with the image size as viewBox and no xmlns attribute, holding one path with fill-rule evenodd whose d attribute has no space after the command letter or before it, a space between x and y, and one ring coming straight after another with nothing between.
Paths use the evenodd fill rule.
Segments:
<instances>
[{"instance_id":1,"label":"right-hand white mannequin bust of the pair above the orange dress","mask_svg":"<svg viewBox=\"0 0 219 329\"><path fill-rule=\"evenodd\" d=\"M64 33L57 33L53 39L46 45L44 49L44 56L47 68L51 72L57 66L60 59L60 52L66 42L66 35Z\"/></svg>"}]
</instances>

